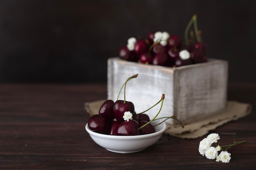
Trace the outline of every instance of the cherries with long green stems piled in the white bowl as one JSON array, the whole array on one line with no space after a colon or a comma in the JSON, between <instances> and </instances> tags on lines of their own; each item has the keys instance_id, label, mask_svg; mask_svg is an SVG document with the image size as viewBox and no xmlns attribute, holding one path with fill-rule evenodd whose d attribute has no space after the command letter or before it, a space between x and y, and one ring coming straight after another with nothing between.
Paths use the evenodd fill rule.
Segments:
<instances>
[{"instance_id":1,"label":"cherries with long green stems piled in the white bowl","mask_svg":"<svg viewBox=\"0 0 256 170\"><path fill-rule=\"evenodd\" d=\"M89 118L88 127L90 130L107 135L144 135L156 132L155 126L157 125L153 126L151 122L156 120L155 118L160 113L164 101L164 94L162 95L159 102L154 105L156 106L161 102L159 112L153 119L150 120L149 116L145 112L154 106L150 107L144 112L136 113L134 104L132 102L126 101L125 99L125 89L126 83L130 79L133 79L137 76L138 74L129 77L121 87L121 89L124 87L124 100L118 100L119 95L116 102L110 99L106 100L101 105L99 114L92 115ZM168 118L175 119L174 116L164 118L165 120ZM164 121L160 122L159 124L163 123Z\"/></svg>"}]
</instances>

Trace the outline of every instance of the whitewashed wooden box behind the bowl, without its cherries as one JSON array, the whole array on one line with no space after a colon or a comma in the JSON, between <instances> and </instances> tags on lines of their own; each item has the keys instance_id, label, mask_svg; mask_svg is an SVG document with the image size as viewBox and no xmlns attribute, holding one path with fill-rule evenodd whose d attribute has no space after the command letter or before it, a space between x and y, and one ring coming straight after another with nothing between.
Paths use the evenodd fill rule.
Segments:
<instances>
[{"instance_id":1,"label":"whitewashed wooden box behind the bowl, without its cherries","mask_svg":"<svg viewBox=\"0 0 256 170\"><path fill-rule=\"evenodd\" d=\"M209 59L209 62L177 68L128 62L118 57L108 59L108 99L117 100L126 79L138 74L126 85L126 100L133 102L140 113L165 94L158 117L176 115L183 123L222 111L227 101L228 62ZM124 89L119 99L124 99ZM153 118L160 104L148 110ZM176 124L173 119L166 121Z\"/></svg>"}]
</instances>

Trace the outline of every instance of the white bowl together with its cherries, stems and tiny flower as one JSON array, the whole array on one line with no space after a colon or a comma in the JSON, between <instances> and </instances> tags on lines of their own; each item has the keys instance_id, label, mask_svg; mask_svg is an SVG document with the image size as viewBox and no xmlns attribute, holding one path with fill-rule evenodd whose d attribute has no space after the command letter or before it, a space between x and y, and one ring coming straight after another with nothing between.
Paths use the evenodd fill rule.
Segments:
<instances>
[{"instance_id":1,"label":"white bowl together with its cherries, stems and tiny flower","mask_svg":"<svg viewBox=\"0 0 256 170\"><path fill-rule=\"evenodd\" d=\"M166 130L164 121L169 118L176 119L175 116L157 118L163 105L164 94L152 107L141 113L135 112L134 104L126 101L125 89L126 83L137 76L138 74L129 77L121 87L124 87L124 100L119 100L118 95L115 102L110 99L103 102L99 114L88 111L92 116L85 126L86 131L95 143L111 152L139 152L152 146ZM158 113L150 119L146 112L159 103L161 106ZM182 125L181 122L180 124Z\"/></svg>"}]
</instances>

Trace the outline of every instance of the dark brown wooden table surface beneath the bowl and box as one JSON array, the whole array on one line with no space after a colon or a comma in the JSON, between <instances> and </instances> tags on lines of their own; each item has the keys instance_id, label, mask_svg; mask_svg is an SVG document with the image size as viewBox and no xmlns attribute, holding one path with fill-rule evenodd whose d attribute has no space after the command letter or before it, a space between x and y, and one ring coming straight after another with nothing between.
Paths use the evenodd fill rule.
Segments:
<instances>
[{"instance_id":1,"label":"dark brown wooden table surface beneath the bowl and box","mask_svg":"<svg viewBox=\"0 0 256 170\"><path fill-rule=\"evenodd\" d=\"M106 99L106 84L0 84L0 170L250 170L256 167L256 84L229 84L228 99L250 103L252 113L211 132L232 147L231 161L209 160L198 139L163 135L144 151L118 154L85 131L85 102Z\"/></svg>"}]
</instances>

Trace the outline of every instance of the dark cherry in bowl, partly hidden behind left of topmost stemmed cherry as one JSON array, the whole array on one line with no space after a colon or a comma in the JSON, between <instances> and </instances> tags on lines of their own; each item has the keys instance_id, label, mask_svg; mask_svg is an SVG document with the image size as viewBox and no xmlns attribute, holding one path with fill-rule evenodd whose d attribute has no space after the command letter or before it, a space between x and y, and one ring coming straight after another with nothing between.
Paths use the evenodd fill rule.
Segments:
<instances>
[{"instance_id":1,"label":"dark cherry in bowl, partly hidden behind left of topmost stemmed cherry","mask_svg":"<svg viewBox=\"0 0 256 170\"><path fill-rule=\"evenodd\" d=\"M99 115L106 117L109 120L115 118L113 112L114 101L113 100L106 100L101 107L99 108Z\"/></svg>"}]
</instances>

